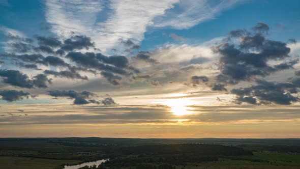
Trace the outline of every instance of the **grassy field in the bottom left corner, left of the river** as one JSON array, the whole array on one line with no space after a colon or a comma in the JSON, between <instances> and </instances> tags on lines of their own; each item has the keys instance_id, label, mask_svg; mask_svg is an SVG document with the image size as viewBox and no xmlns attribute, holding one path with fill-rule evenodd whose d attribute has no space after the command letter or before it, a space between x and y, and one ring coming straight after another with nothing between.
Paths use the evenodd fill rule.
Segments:
<instances>
[{"instance_id":1,"label":"grassy field in the bottom left corner, left of the river","mask_svg":"<svg viewBox=\"0 0 300 169\"><path fill-rule=\"evenodd\" d=\"M0 168L4 169L53 169L61 166L63 163L77 162L79 161L0 156Z\"/></svg>"}]
</instances>

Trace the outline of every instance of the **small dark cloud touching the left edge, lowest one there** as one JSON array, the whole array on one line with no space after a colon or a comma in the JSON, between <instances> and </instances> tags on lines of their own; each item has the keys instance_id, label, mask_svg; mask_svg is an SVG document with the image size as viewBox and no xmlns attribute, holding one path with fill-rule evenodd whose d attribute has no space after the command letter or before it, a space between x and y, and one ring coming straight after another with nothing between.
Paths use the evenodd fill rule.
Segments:
<instances>
[{"instance_id":1,"label":"small dark cloud touching the left edge, lowest one there","mask_svg":"<svg viewBox=\"0 0 300 169\"><path fill-rule=\"evenodd\" d=\"M4 90L0 91L0 96L2 96L2 100L6 100L8 102L13 102L17 100L22 100L23 98L33 97L30 93L16 90Z\"/></svg>"}]
</instances>

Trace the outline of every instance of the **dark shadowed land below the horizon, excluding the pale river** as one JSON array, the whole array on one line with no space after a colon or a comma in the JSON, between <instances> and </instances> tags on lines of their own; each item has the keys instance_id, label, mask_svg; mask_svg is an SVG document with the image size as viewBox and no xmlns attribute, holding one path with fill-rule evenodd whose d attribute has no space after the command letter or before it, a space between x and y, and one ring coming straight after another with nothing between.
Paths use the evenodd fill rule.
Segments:
<instances>
[{"instance_id":1,"label":"dark shadowed land below the horizon, excluding the pale river","mask_svg":"<svg viewBox=\"0 0 300 169\"><path fill-rule=\"evenodd\" d=\"M1 138L3 168L300 168L300 139Z\"/></svg>"}]
</instances>

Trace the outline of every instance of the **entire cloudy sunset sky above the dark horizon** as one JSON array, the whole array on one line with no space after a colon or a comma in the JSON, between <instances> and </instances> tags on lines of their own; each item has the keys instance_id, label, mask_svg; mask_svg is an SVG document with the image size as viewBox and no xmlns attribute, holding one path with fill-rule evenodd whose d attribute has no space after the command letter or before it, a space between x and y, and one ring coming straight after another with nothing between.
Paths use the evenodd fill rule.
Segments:
<instances>
[{"instance_id":1,"label":"entire cloudy sunset sky above the dark horizon","mask_svg":"<svg viewBox=\"0 0 300 169\"><path fill-rule=\"evenodd\" d=\"M0 137L299 138L298 7L0 0Z\"/></svg>"}]
</instances>

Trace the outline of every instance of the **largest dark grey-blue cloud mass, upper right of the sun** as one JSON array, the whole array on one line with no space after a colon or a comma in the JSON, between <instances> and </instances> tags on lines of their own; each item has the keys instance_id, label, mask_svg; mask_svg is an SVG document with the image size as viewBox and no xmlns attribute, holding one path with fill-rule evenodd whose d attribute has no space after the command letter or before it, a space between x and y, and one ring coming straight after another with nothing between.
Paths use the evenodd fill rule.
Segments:
<instances>
[{"instance_id":1,"label":"largest dark grey-blue cloud mass, upper right of the sun","mask_svg":"<svg viewBox=\"0 0 300 169\"><path fill-rule=\"evenodd\" d=\"M290 48L284 42L266 39L261 34L268 31L268 26L264 23L258 23L253 30L256 33L246 30L230 32L227 40L238 37L239 45L226 41L212 47L214 52L221 54L219 60L221 73L216 77L218 82L235 84L241 80L253 80L257 76L293 68L298 62L293 60L269 65L268 61L283 61L288 58Z\"/></svg>"}]
</instances>

